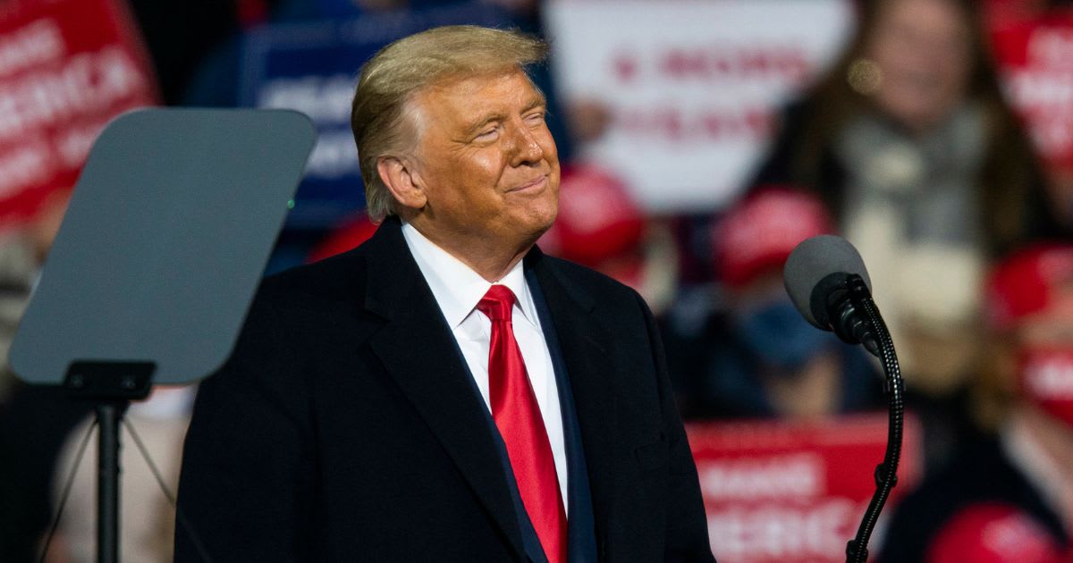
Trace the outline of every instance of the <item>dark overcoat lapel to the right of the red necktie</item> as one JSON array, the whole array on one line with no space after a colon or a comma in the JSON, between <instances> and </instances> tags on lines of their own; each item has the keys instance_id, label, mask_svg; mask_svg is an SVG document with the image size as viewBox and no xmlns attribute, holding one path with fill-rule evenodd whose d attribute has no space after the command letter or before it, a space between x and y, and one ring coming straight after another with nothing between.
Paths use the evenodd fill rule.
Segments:
<instances>
[{"instance_id":1,"label":"dark overcoat lapel to the right of the red necktie","mask_svg":"<svg viewBox=\"0 0 1073 563\"><path fill-rule=\"evenodd\" d=\"M614 340L594 321L592 299L562 278L540 250L534 249L526 260L527 266L535 270L559 335L589 470L597 540L603 551L617 489L616 470L623 463L621 448L615 447L615 382L605 359Z\"/></svg>"}]
</instances>

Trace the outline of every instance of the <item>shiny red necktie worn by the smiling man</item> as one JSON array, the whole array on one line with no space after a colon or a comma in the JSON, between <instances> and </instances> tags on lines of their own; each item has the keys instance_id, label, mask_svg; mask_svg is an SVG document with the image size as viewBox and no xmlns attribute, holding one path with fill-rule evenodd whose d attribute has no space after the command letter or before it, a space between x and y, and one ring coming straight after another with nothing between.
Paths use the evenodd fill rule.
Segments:
<instances>
[{"instance_id":1,"label":"shiny red necktie worn by the smiling man","mask_svg":"<svg viewBox=\"0 0 1073 563\"><path fill-rule=\"evenodd\" d=\"M521 350L514 340L511 310L514 293L493 285L476 309L491 320L488 395L491 417L506 443L521 503L540 537L548 563L567 561L567 513L555 472L547 430L533 395Z\"/></svg>"}]
</instances>

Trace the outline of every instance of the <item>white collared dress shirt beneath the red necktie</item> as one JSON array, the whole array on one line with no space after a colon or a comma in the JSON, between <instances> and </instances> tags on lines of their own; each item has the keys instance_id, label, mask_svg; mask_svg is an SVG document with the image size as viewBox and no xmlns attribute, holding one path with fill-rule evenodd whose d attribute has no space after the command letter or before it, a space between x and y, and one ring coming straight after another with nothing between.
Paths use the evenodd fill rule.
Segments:
<instances>
[{"instance_id":1,"label":"white collared dress shirt beneath the red necktie","mask_svg":"<svg viewBox=\"0 0 1073 563\"><path fill-rule=\"evenodd\" d=\"M458 347L462 351L470 373L473 374L476 387L481 390L481 397L484 398L485 406L490 413L488 354L491 321L476 310L476 305L493 284L425 238L409 223L402 224L402 236L421 273L432 290L432 296L440 306L443 317L458 342ZM514 338L521 350L529 382L536 395L541 416L544 418L544 428L547 430L548 442L552 443L555 471L559 478L559 490L562 492L563 507L567 508L567 449L562 438L559 389L552 367L552 354L547 350L544 331L541 330L540 317L536 315L536 307L526 283L521 262L519 261L496 283L510 287L517 297L511 314Z\"/></svg>"}]
</instances>

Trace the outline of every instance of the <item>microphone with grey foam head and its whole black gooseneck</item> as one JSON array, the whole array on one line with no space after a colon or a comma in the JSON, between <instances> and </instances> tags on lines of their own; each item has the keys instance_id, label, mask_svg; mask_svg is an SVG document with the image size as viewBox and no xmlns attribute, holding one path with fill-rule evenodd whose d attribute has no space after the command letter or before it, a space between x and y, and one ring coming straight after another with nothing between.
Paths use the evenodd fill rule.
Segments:
<instances>
[{"instance_id":1,"label":"microphone with grey foam head and its whole black gooseneck","mask_svg":"<svg viewBox=\"0 0 1073 563\"><path fill-rule=\"evenodd\" d=\"M846 546L847 563L865 563L868 539L891 489L898 481L901 434L905 417L905 383L891 332L871 298L870 280L861 254L843 238L821 235L794 249L783 268L790 299L817 328L834 331L850 344L861 343L880 359L886 375L884 391L890 411L886 451L873 475L876 492Z\"/></svg>"}]
</instances>

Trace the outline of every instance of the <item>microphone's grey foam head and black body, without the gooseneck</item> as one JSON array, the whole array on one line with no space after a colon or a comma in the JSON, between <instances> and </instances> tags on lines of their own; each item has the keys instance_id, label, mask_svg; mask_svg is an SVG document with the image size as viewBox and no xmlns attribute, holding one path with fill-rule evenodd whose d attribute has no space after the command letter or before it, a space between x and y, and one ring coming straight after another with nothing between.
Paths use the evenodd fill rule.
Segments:
<instances>
[{"instance_id":1,"label":"microphone's grey foam head and black body, without the gooseneck","mask_svg":"<svg viewBox=\"0 0 1073 563\"><path fill-rule=\"evenodd\" d=\"M787 258L782 281L806 321L834 331L843 342L864 344L879 357L876 328L850 298L856 293L871 300L871 281L861 254L848 240L834 235L804 240Z\"/></svg>"}]
</instances>

